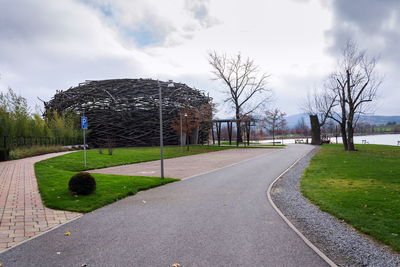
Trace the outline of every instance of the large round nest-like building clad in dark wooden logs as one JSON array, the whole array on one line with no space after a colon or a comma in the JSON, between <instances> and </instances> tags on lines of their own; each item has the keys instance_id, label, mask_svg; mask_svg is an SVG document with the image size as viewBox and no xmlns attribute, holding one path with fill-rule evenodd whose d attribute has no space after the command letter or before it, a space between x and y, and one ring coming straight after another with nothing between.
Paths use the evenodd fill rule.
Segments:
<instances>
[{"instance_id":1,"label":"large round nest-like building clad in dark wooden logs","mask_svg":"<svg viewBox=\"0 0 400 267\"><path fill-rule=\"evenodd\" d=\"M212 99L183 83L152 79L86 81L66 91L57 91L44 103L44 115L51 116L54 111L84 114L89 119L88 144L94 147L110 146L110 143L114 147L156 146L160 143L159 86L164 144L178 145L182 142L182 133L183 140L189 140L186 137L190 136L191 143L208 140ZM183 112L188 110L201 113L189 118L196 127L188 126L186 113L186 123L182 126ZM179 122L180 131L176 127Z\"/></svg>"}]
</instances>

